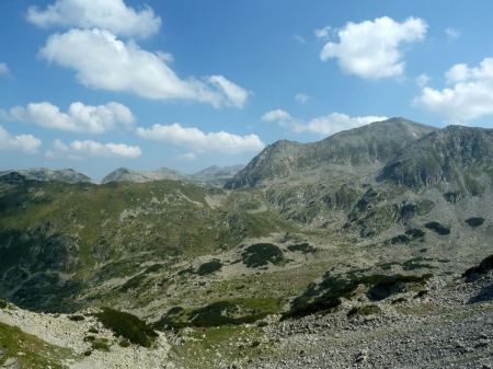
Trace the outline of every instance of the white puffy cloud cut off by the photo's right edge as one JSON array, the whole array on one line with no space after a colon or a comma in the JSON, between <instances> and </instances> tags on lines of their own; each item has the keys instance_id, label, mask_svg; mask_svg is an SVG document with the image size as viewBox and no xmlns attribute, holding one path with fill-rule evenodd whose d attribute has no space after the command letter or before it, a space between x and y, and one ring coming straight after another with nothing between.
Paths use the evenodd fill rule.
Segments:
<instances>
[{"instance_id":1,"label":"white puffy cloud cut off by the photo's right edge","mask_svg":"<svg viewBox=\"0 0 493 369\"><path fill-rule=\"evenodd\" d=\"M445 77L452 89L442 91L424 88L412 105L424 107L448 123L467 123L493 114L493 58L485 58L479 67L459 64Z\"/></svg>"}]
</instances>

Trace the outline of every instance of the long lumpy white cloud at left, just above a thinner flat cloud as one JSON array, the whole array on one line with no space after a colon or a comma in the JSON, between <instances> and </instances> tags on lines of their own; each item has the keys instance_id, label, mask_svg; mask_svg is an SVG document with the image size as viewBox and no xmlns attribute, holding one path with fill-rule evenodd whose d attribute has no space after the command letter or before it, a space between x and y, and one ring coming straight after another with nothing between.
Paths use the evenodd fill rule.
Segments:
<instances>
[{"instance_id":1,"label":"long lumpy white cloud at left, just above a thinner flat cloud","mask_svg":"<svg viewBox=\"0 0 493 369\"><path fill-rule=\"evenodd\" d=\"M84 134L103 134L117 125L130 128L136 117L130 109L119 103L91 106L82 103L70 105L68 113L50 103L31 103L26 108L15 106L10 109L11 120L33 123L45 128L70 130Z\"/></svg>"}]
</instances>

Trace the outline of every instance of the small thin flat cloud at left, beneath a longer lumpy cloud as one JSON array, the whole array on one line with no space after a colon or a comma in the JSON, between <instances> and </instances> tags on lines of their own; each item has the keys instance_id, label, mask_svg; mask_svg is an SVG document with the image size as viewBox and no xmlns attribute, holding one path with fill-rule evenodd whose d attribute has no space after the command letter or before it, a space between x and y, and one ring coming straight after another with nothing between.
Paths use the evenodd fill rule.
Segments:
<instances>
[{"instance_id":1,"label":"small thin flat cloud at left, beneath a longer lumpy cloud","mask_svg":"<svg viewBox=\"0 0 493 369\"><path fill-rule=\"evenodd\" d=\"M72 141L69 146L60 140L55 140L53 150L46 151L47 157L67 157L69 159L82 160L87 157L106 157L106 158L130 158L135 159L142 153L138 146L127 146L123 143L100 143L96 141Z\"/></svg>"}]
</instances>

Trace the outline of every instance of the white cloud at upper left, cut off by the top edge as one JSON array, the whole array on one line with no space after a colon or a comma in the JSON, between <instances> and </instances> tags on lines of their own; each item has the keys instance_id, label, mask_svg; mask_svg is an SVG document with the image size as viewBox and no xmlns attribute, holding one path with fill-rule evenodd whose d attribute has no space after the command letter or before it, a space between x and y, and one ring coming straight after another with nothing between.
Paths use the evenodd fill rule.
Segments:
<instances>
[{"instance_id":1,"label":"white cloud at upper left, cut off by the top edge","mask_svg":"<svg viewBox=\"0 0 493 369\"><path fill-rule=\"evenodd\" d=\"M57 0L46 10L30 7L27 20L41 27L61 25L78 28L103 28L115 35L149 37L161 27L161 19L145 5L140 11L123 0Z\"/></svg>"}]
</instances>

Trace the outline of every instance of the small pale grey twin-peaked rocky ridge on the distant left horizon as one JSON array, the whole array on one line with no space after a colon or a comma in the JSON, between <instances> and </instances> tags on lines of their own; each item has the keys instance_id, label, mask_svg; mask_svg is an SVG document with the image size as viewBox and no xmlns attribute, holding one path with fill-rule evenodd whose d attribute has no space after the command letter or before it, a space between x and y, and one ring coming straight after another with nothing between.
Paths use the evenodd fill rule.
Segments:
<instances>
[{"instance_id":1,"label":"small pale grey twin-peaked rocky ridge on the distant left horizon","mask_svg":"<svg viewBox=\"0 0 493 369\"><path fill-rule=\"evenodd\" d=\"M168 168L160 168L153 172L137 172L128 168L118 168L113 171L108 175L106 175L102 183L108 182L135 182L135 183L144 183L151 181L162 181L162 180L171 180L171 181L182 181L185 183L193 182L188 175L180 173L177 171L173 171Z\"/></svg>"}]
</instances>

